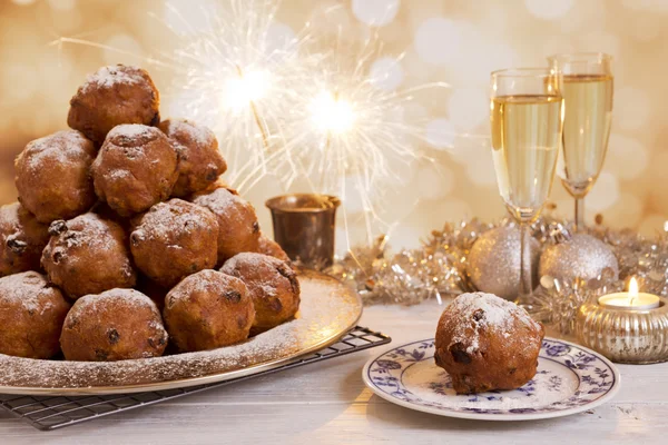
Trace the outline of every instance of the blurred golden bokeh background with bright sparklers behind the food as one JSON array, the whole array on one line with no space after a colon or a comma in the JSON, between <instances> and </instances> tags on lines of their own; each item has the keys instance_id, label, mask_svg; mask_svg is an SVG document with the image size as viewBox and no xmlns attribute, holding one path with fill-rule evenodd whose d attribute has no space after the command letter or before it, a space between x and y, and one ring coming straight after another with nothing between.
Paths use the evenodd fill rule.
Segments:
<instances>
[{"instance_id":1,"label":"blurred golden bokeh background with bright sparklers behind the food","mask_svg":"<svg viewBox=\"0 0 668 445\"><path fill-rule=\"evenodd\" d=\"M254 32L235 32L234 13L220 14L218 21L207 13L207 8L230 2ZM420 8L407 0L283 0L278 8L272 0L252 3L258 7L247 14L243 8L249 3L239 0L0 2L2 204L16 200L13 158L28 141L67 127L68 100L86 75L104 65L135 63L151 72L165 118L193 118L217 132L230 164L227 178L243 181L258 208L278 191L317 188L322 181L328 191L347 194L353 243L364 240L373 226L370 212L382 212L383 225L373 228L396 234L396 247L414 247L444 219L504 215L489 152L489 71L544 65L553 52L607 51L615 56L612 131L603 171L587 198L587 220L600 212L615 228L648 235L664 228L665 2L490 0L475 7L421 0ZM307 34L318 42L315 50L302 51L297 46L312 43L302 31L307 22ZM217 38L217 47L208 52L197 47L203 36ZM99 46L68 43L77 39ZM190 46L184 46L187 39ZM371 53L348 51L369 41ZM249 50L215 58L220 49L240 47ZM358 66L340 70L325 63L336 59L336 51ZM313 52L327 60L304 62ZM151 62L157 60L165 63ZM450 88L413 90L435 82ZM206 95L200 93L203 85ZM400 98L402 91L410 93ZM287 118L295 123L286 126ZM304 165L291 165L288 155ZM267 171L258 166L267 162L264 156L274 156L269 161L276 175L263 177ZM311 176L302 175L304 169ZM367 177L370 171L377 177ZM385 181L376 181L383 175ZM370 187L373 197L354 196ZM572 217L572 201L559 181L551 200L558 212ZM258 214L269 227L268 212Z\"/></svg>"}]
</instances>

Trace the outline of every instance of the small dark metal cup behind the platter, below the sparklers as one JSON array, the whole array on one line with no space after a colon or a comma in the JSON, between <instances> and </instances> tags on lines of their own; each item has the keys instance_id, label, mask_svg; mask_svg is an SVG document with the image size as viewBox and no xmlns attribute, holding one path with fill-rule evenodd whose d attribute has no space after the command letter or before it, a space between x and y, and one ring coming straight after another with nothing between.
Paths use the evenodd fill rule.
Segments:
<instances>
[{"instance_id":1,"label":"small dark metal cup behind the platter, below the sparklers","mask_svg":"<svg viewBox=\"0 0 668 445\"><path fill-rule=\"evenodd\" d=\"M318 270L334 263L338 198L293 194L277 196L265 205L272 210L274 239L291 259Z\"/></svg>"}]
</instances>

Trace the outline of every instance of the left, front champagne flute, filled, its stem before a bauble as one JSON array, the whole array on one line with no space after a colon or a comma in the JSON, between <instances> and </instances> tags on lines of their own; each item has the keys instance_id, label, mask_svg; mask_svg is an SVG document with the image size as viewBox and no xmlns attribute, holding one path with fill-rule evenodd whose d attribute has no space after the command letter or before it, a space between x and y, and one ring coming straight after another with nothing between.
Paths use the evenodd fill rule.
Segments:
<instances>
[{"instance_id":1,"label":"left, front champagne flute, filled, its stem before a bauble","mask_svg":"<svg viewBox=\"0 0 668 445\"><path fill-rule=\"evenodd\" d=\"M548 68L494 71L491 75L492 156L499 192L520 225L520 294L530 306L530 225L550 195L563 123L561 76Z\"/></svg>"}]
</instances>

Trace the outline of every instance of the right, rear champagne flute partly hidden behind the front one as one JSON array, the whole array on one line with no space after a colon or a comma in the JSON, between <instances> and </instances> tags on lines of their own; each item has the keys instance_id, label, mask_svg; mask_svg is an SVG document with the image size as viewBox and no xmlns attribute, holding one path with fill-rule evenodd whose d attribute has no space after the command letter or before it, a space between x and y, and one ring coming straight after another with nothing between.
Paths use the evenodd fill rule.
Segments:
<instances>
[{"instance_id":1,"label":"right, rear champagne flute partly hidden behind the front one","mask_svg":"<svg viewBox=\"0 0 668 445\"><path fill-rule=\"evenodd\" d=\"M568 192L576 198L576 230L584 227L584 196L596 182L612 120L612 58L601 52L556 55L548 58L563 76L563 171Z\"/></svg>"}]
</instances>

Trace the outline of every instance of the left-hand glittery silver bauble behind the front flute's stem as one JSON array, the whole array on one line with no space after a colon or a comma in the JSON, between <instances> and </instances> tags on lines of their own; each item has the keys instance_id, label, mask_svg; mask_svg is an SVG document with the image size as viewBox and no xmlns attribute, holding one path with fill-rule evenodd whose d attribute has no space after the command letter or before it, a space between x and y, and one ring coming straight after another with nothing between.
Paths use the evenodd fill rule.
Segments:
<instances>
[{"instance_id":1,"label":"left-hand glittery silver bauble behind the front flute's stem","mask_svg":"<svg viewBox=\"0 0 668 445\"><path fill-rule=\"evenodd\" d=\"M531 238L532 283L538 285L540 243ZM520 229L498 227L480 235L466 261L466 273L478 290L514 300L520 291Z\"/></svg>"}]
</instances>

